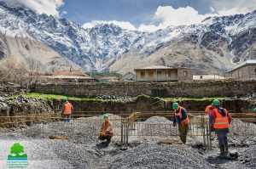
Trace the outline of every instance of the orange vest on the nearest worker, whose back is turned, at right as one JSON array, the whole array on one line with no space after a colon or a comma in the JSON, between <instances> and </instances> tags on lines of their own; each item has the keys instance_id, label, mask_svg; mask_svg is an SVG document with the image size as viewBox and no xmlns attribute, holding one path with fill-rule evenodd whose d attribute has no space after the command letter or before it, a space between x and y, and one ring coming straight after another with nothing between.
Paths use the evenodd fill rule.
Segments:
<instances>
[{"instance_id":1,"label":"orange vest on the nearest worker, whose back is turned, at right","mask_svg":"<svg viewBox=\"0 0 256 169\"><path fill-rule=\"evenodd\" d=\"M230 127L230 123L229 123L229 117L228 117L228 113L227 113L227 110L225 110L225 113L226 115L223 116L221 115L219 112L218 112L218 109L215 108L213 109L215 111L215 114L216 114L216 118L213 122L213 127L214 128L229 128Z\"/></svg>"}]
</instances>

